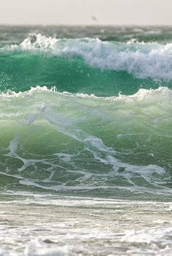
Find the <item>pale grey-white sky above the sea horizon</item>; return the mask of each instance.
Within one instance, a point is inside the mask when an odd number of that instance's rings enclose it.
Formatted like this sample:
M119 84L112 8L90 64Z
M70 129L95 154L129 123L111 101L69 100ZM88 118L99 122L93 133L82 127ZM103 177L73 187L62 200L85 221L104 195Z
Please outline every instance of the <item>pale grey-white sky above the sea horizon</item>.
M0 0L0 24L172 25L172 0Z

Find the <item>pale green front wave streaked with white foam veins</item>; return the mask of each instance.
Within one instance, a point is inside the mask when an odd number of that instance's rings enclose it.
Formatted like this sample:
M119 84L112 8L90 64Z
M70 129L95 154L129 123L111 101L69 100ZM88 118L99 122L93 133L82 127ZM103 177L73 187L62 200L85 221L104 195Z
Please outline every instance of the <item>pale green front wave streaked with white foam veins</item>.
M36 87L0 97L1 188L10 179L15 189L171 194L170 89L96 97Z

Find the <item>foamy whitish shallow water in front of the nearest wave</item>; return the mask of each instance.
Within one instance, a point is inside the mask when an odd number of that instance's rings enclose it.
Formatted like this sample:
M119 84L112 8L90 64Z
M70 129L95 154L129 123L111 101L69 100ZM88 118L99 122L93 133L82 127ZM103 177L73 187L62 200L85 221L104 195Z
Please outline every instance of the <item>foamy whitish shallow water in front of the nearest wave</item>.
M166 203L19 198L1 201L0 255L171 255Z

